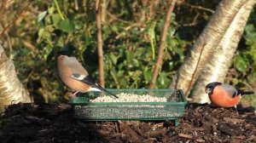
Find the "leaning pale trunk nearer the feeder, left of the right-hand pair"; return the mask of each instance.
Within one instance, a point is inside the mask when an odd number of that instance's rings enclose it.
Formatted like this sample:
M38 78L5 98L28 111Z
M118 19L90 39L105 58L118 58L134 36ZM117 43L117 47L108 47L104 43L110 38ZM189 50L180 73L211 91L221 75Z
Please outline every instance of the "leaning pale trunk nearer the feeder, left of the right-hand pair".
M194 85L199 74L201 74L201 69L207 64L208 59L212 58L214 50L224 37L224 33L228 30L230 23L247 1L223 0L219 3L215 14L212 15L211 20L186 56L183 66L177 72L175 82L171 85L172 88L183 89L185 95L189 95L191 87ZM203 49L203 52L198 63L201 49ZM195 69L197 63L198 67ZM193 74L195 76L192 79ZM191 86L189 86L190 83L192 83Z

